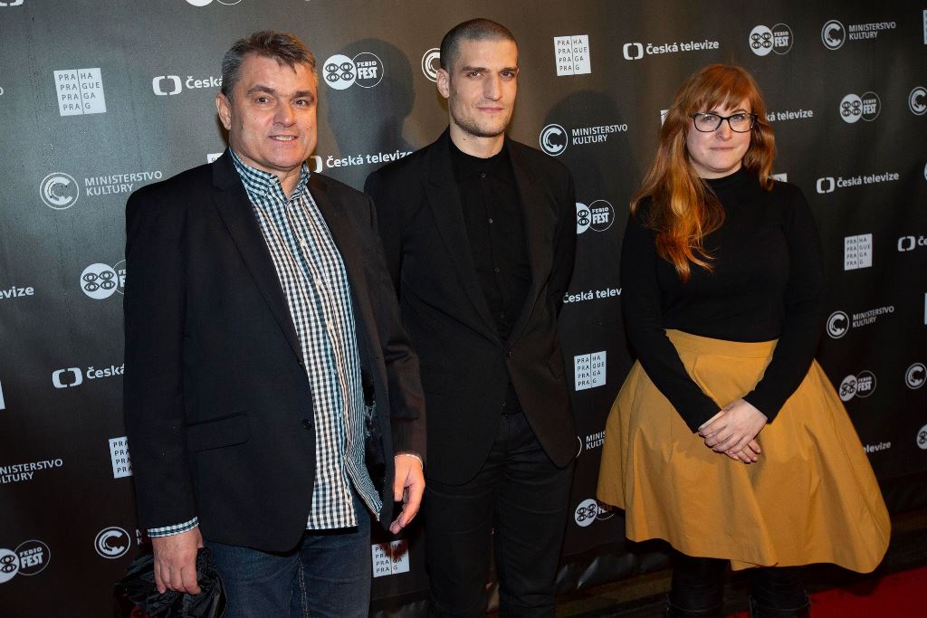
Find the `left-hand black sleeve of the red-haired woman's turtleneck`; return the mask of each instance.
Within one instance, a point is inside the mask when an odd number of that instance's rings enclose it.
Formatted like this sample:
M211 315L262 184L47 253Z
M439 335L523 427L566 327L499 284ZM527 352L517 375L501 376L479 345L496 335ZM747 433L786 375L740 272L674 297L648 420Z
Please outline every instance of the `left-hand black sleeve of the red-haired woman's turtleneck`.
M686 372L663 326L654 232L631 215L621 246L621 309L631 346L654 385L692 432L721 409Z

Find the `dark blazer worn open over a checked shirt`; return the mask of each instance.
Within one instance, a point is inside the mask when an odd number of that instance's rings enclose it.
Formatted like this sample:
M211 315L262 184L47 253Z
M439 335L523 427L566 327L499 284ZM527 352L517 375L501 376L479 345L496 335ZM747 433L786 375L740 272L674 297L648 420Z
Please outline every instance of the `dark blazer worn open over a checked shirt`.
M386 523L394 449L425 454L418 361L370 199L319 174L310 191L348 273ZM296 328L251 208L227 152L129 198L125 422L143 527L197 516L211 540L286 550L310 511L315 426Z

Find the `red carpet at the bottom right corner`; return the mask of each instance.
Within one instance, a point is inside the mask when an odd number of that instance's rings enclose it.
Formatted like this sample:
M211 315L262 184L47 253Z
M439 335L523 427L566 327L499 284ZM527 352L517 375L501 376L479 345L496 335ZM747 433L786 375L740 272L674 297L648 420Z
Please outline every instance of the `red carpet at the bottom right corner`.
M927 567L816 592L811 595L812 618L916 618L927 616L924 591ZM748 612L731 618L747 618Z

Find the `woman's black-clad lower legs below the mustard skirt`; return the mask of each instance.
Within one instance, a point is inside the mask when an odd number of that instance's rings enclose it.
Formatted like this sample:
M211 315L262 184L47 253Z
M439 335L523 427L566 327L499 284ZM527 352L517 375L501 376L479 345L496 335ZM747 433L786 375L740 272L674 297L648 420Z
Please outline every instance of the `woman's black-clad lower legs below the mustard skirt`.
M724 575L728 562L717 558L692 558L679 551L674 552L670 604L687 612L710 612L716 608L720 612L724 603ZM747 570L750 596L756 605L782 611L805 607L807 594L797 571L788 567Z

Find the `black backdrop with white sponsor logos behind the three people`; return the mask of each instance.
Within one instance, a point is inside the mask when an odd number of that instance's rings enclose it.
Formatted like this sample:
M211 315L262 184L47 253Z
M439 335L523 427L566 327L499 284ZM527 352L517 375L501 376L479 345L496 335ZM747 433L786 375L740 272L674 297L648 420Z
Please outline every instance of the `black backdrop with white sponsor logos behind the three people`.
M819 223L819 359L892 511L927 502L927 3L629 0L0 0L0 613L106 616L144 538L122 424L123 208L224 142L213 98L240 36L295 32L319 58L311 168L355 187L433 140L452 25L518 38L511 134L577 181L565 298L578 465L562 591L660 558L594 486L631 356L617 259L661 112L710 62L753 71L780 156ZM153 308L152 310L157 310ZM421 536L377 536L375 607L413 614Z

